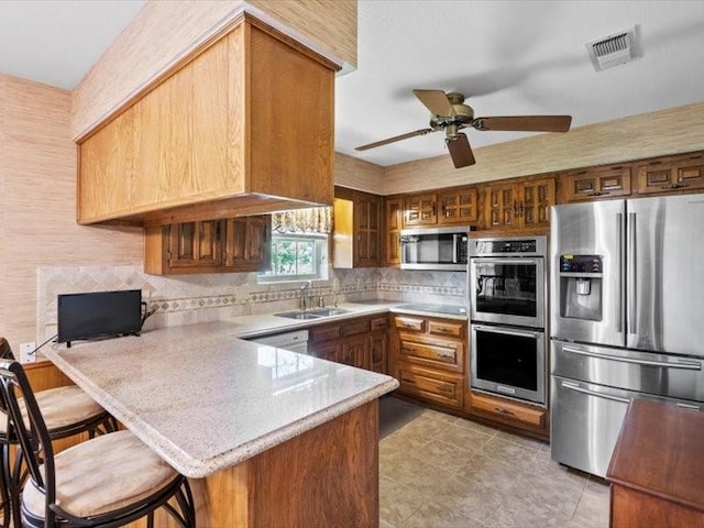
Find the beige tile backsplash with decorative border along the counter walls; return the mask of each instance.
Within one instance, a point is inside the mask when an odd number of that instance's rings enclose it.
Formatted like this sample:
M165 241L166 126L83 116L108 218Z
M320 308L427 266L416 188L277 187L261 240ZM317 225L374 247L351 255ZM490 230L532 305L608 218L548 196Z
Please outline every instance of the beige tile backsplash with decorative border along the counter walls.
M330 270L312 283L315 296L330 305L372 298L464 304L466 273L395 268ZM141 289L155 314L145 328L206 322L298 307L298 283L257 284L256 273L148 275L141 266L37 268L37 341L56 333L56 296L84 292Z

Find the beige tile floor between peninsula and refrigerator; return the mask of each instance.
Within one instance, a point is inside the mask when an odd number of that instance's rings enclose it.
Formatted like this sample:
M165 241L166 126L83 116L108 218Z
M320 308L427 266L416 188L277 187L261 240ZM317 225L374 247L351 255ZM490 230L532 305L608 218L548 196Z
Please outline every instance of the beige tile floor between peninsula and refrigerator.
M608 487L547 443L428 409L409 418L380 442L382 528L608 527Z

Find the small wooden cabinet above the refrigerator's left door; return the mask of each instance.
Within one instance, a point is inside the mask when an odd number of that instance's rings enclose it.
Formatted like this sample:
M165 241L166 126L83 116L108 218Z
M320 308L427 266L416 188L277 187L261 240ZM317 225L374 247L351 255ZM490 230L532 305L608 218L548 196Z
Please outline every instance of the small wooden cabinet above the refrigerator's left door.
M630 166L593 167L560 176L560 204L630 195Z

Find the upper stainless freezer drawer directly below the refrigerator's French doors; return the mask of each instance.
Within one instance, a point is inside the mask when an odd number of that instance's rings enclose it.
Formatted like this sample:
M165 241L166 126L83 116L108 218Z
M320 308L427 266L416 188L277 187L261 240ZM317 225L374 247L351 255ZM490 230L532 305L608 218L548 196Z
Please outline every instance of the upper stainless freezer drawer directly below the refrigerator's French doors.
M552 340L552 374L670 398L704 402L704 360Z

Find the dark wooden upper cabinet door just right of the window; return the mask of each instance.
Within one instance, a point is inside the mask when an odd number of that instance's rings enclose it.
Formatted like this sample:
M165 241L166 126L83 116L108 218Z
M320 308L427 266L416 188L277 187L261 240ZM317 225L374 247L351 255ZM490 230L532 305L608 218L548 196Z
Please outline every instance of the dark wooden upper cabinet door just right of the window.
M378 267L382 262L382 198L356 194L353 208L354 267Z

